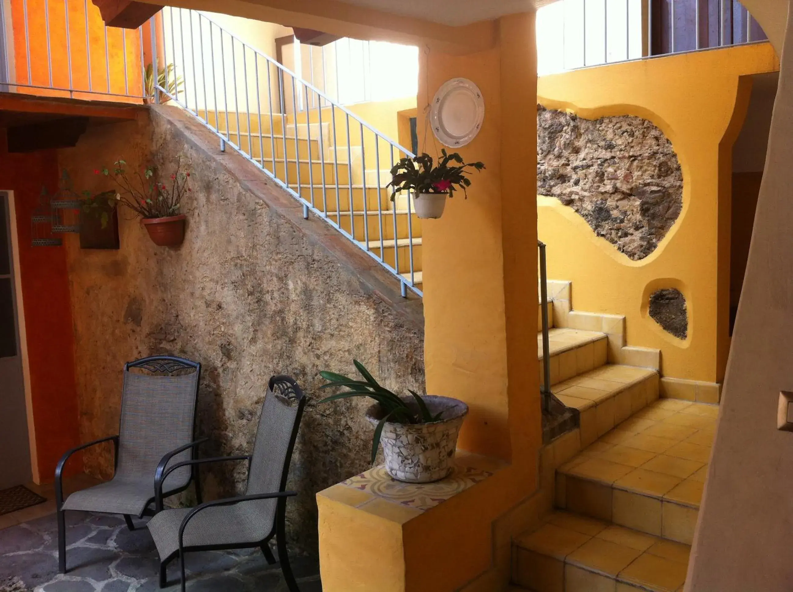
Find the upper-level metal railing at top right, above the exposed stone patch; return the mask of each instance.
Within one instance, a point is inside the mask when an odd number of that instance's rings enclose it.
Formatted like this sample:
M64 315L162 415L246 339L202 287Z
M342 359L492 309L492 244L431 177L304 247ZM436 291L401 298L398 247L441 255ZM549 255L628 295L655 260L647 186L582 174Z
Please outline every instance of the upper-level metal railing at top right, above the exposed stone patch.
M537 11L539 75L763 40L737 0L559 0Z

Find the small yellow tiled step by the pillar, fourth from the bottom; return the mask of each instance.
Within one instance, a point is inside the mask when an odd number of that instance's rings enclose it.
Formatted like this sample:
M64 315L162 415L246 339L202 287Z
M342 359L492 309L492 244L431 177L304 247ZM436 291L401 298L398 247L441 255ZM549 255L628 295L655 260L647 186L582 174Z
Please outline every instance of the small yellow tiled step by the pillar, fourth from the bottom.
M554 328L550 338L550 384L600 368L606 363L607 336L600 331ZM542 360L542 332L537 334L537 359ZM540 382L544 368L540 364ZM555 391L554 391L555 392Z

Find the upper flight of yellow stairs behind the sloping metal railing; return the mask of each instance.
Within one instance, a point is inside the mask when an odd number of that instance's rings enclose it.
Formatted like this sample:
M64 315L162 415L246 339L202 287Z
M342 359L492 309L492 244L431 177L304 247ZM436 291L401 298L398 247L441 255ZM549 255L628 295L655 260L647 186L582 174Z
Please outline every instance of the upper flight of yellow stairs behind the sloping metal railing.
M270 120L269 114L259 118L255 113L250 117L241 113L239 121L231 114L228 124L224 113L216 116L213 111L201 111L199 116L208 117L209 124L221 134L228 136L264 168L274 170L280 181L315 208L327 212L359 246L381 256L392 266L396 265L397 250L400 274L408 280L411 279L412 260L413 280L421 288L421 220L411 208L408 222L407 197L397 196L396 204L392 204L389 190L385 189L391 178L383 164L387 152L382 156L378 179L375 163L370 162L371 155L366 155L364 171L360 139L354 134L351 134L348 147L344 126L338 125L334 130L327 121L321 126L295 124L291 117L280 114ZM328 109L328 119L330 116ZM334 148L334 141L339 148ZM387 164L390 168L390 160ZM410 236L412 244L408 241Z

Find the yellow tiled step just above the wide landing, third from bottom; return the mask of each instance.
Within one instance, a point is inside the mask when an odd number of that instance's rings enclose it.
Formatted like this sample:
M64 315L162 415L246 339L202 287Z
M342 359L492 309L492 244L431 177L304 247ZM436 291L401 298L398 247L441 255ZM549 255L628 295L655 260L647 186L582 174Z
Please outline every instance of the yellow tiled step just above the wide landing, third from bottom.
M554 384L554 395L580 413L581 445L588 446L658 399L658 372L608 364Z

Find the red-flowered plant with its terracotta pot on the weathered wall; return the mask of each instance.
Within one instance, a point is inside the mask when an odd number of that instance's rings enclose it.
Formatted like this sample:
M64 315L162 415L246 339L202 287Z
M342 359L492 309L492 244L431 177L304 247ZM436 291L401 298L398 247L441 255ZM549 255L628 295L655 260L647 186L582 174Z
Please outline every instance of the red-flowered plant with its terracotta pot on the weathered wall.
M182 159L167 183L161 181L155 166L146 166L136 172L136 180L129 178L124 160L113 162L113 169L94 170L112 178L120 189L116 193L118 203L125 205L140 216L152 242L158 246L178 246L185 239L184 214L179 213L182 199L192 189L188 186L190 171L182 170Z

